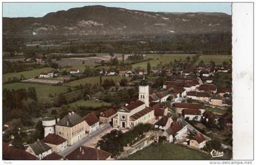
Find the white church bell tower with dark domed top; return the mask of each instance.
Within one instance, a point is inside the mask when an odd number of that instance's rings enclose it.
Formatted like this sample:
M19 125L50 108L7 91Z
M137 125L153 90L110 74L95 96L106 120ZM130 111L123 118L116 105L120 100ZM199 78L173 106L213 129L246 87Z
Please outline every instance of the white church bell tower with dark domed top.
M149 84L144 78L139 84L139 100L143 101L149 107Z

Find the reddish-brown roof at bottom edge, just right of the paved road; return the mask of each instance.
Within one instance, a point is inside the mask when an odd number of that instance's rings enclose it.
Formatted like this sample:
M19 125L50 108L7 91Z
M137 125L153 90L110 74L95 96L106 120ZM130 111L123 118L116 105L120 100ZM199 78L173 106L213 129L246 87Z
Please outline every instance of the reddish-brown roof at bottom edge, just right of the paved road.
M111 153L91 147L80 146L66 155L68 160L107 160Z

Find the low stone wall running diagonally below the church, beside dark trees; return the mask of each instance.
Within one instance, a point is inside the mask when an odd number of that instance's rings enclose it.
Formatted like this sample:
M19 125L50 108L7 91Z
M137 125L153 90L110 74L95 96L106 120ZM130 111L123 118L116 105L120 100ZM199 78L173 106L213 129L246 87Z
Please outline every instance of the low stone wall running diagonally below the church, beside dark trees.
M130 149L125 150L121 155L118 156L117 160L122 160L123 158L132 155L133 153L137 152L138 150L144 149L144 147L148 147L150 144L154 143L157 139L155 132L148 132L145 134L146 136L138 141L137 143L130 146Z

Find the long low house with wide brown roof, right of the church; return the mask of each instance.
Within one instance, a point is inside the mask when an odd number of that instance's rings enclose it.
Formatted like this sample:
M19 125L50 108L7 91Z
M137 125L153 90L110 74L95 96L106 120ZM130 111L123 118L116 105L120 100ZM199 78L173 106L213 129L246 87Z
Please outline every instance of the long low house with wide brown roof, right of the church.
M199 109L201 114L205 112L204 106L196 103L174 103L172 107L175 107L175 112L179 114L182 113L183 109Z

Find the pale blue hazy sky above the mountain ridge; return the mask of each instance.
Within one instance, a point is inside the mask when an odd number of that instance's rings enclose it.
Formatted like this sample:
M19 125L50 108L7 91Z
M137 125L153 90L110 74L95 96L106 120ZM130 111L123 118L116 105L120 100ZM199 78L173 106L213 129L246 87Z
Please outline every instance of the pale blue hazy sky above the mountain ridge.
M49 12L85 5L105 5L149 12L222 12L231 15L231 3L3 3L4 17L41 17Z

